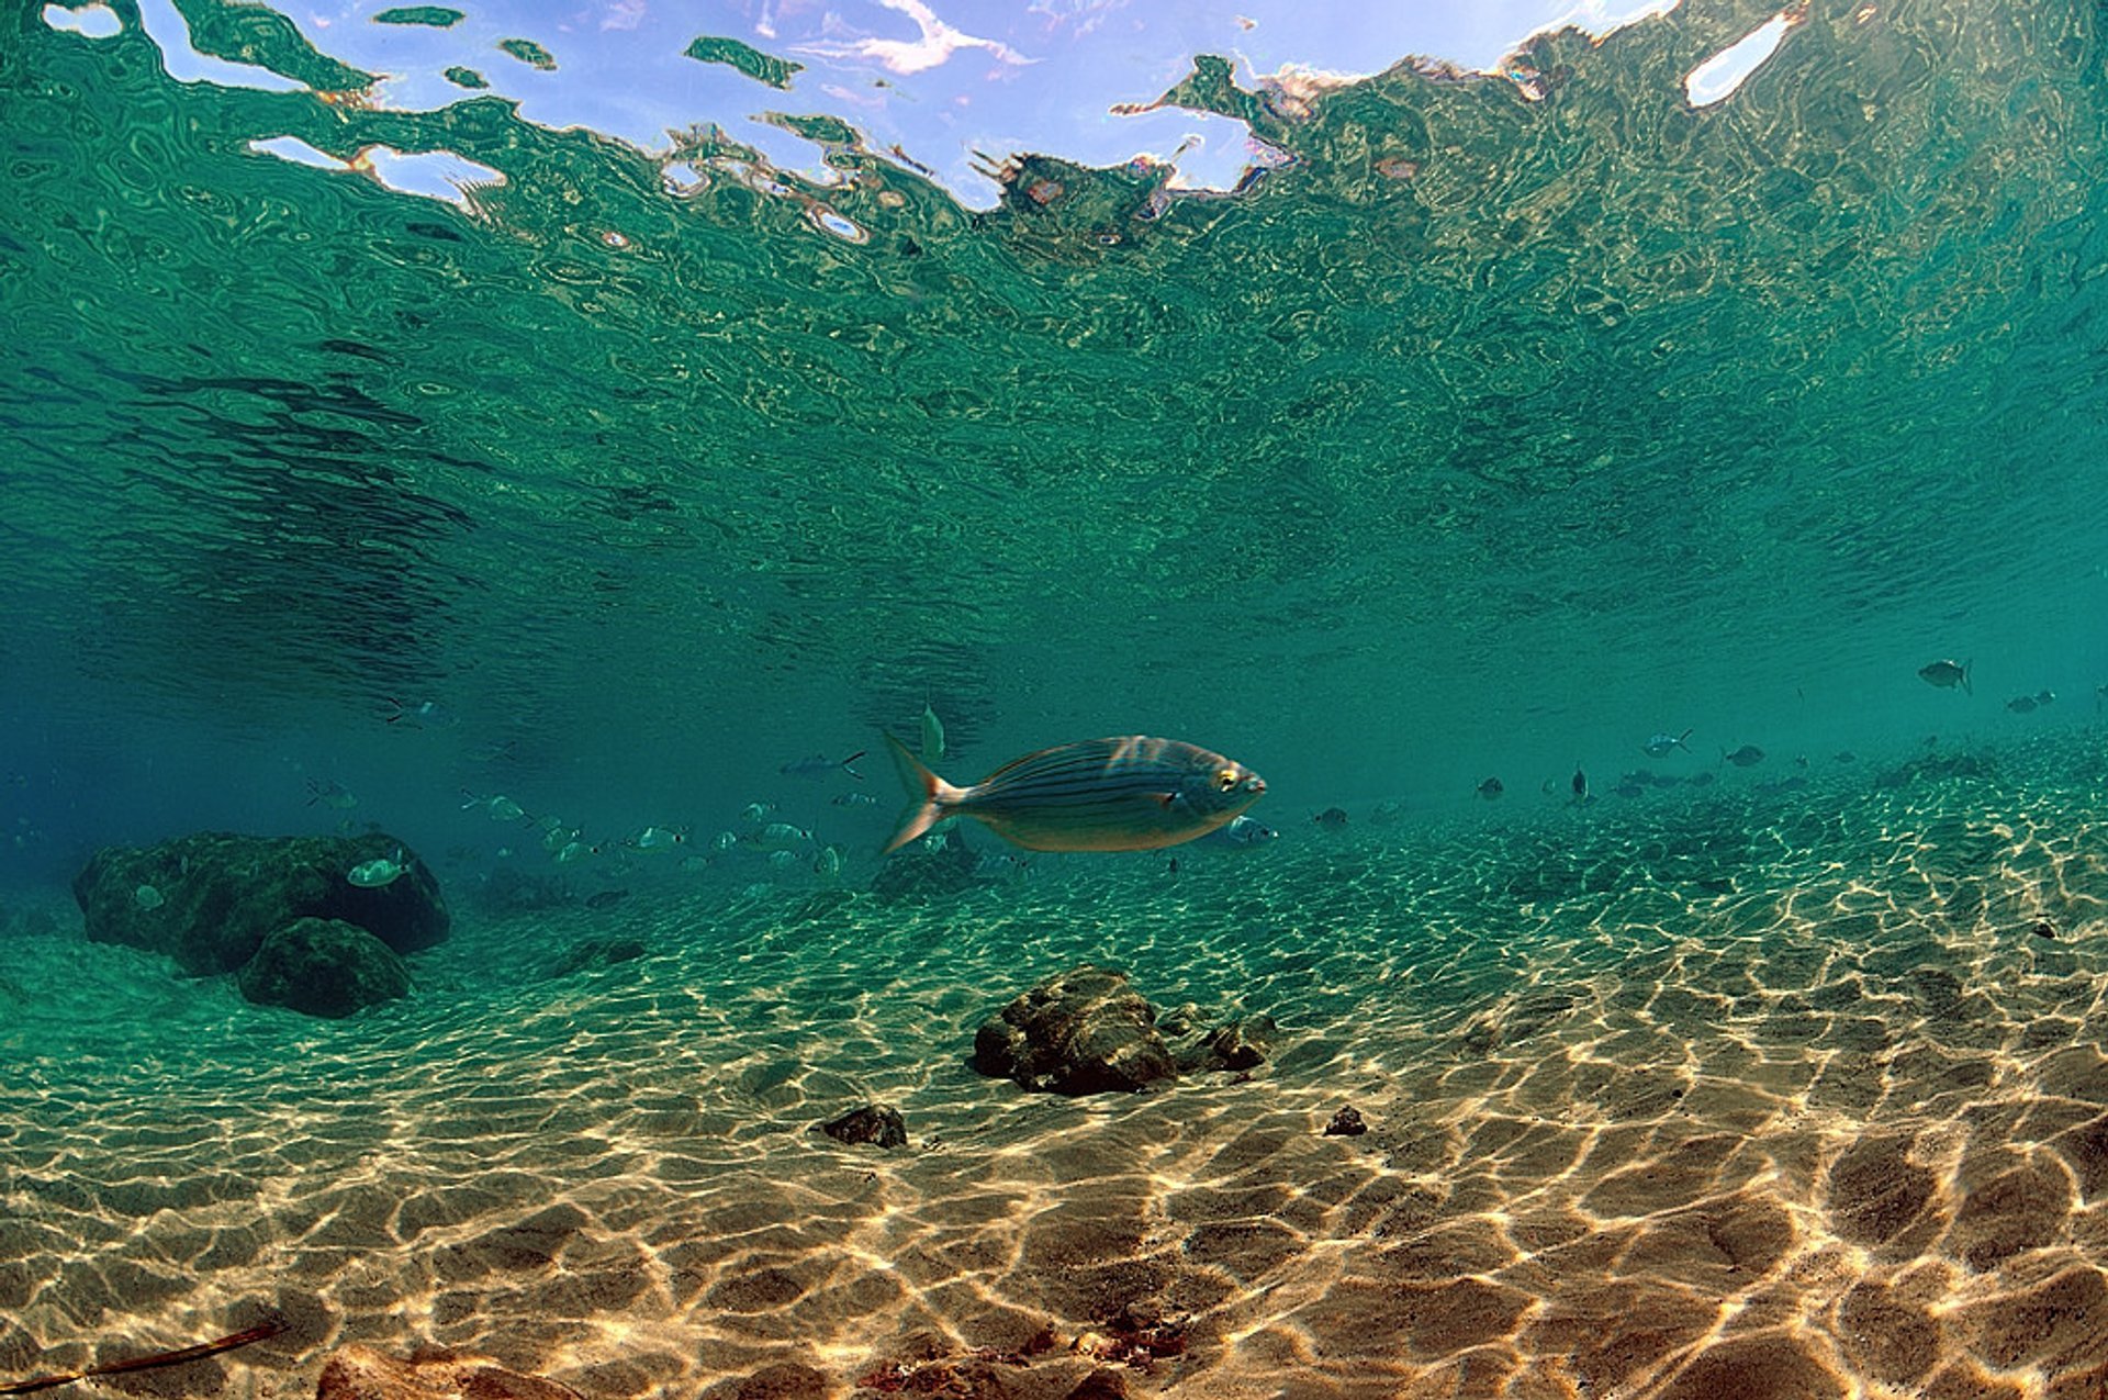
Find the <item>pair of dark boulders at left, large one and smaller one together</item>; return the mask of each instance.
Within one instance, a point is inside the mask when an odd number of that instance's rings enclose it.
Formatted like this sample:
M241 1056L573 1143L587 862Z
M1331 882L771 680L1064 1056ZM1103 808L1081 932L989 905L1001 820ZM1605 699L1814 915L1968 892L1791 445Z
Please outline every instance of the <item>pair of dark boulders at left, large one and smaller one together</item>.
M373 888L350 881L375 860L403 873ZM238 972L251 1002L310 1016L407 995L401 955L449 928L432 871L386 833L108 845L74 877L74 898L95 942L167 953L190 976Z

